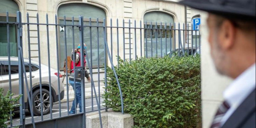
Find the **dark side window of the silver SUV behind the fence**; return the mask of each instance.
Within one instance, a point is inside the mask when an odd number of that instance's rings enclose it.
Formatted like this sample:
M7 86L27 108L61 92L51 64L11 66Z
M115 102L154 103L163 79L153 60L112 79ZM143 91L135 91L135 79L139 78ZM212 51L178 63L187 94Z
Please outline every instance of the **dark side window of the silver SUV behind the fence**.
M29 72L29 65L27 62L25 64L26 72ZM9 68L8 68L8 60L2 61L2 68L5 69L5 75L9 75ZM18 61L11 61L11 74L17 74L19 73L19 67L18 67Z

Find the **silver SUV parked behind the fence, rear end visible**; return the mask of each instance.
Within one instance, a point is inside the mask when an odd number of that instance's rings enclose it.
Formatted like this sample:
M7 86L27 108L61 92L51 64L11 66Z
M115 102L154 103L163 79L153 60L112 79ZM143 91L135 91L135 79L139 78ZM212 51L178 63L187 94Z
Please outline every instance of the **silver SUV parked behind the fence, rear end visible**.
M9 90L9 70L8 70L8 57L0 57L0 87L4 88L4 94ZM30 90L30 77L32 78L32 107L34 115L41 115L41 103L40 103L40 82L39 82L39 63L31 60L31 76L29 73L29 59L24 58L26 75L28 81L28 87ZM42 80L42 96L43 96L43 114L47 114L50 111L50 93L49 93L49 73L48 66L41 64L41 80ZM51 87L52 87L52 102L57 102L64 98L64 85L60 81L60 94L58 93L58 73L56 69L51 68ZM62 77L62 75L60 75ZM11 57L11 85L13 98L19 96L19 74L18 74L18 57ZM28 95L26 89L26 83L24 78L24 99L25 109L28 109ZM18 104L18 103L17 103ZM15 110L18 110L16 108ZM14 111L15 111L14 110ZM29 110L29 109L28 109Z

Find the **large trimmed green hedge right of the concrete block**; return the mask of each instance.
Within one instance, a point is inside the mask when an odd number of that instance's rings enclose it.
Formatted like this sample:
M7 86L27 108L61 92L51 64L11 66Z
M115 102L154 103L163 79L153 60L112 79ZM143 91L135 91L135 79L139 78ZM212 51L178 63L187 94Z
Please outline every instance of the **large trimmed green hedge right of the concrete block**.
M140 58L115 67L123 92L124 112L134 128L201 127L200 56ZM121 111L118 85L107 68L104 103Z

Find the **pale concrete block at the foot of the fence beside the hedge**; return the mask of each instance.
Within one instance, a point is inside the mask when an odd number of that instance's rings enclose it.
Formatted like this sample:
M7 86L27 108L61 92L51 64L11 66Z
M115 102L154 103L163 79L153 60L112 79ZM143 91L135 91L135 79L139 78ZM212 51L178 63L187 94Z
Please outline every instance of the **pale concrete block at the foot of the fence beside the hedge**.
M120 112L101 113L102 128L132 128L133 117L130 114L122 114ZM86 128L100 128L100 120L98 112L86 115Z

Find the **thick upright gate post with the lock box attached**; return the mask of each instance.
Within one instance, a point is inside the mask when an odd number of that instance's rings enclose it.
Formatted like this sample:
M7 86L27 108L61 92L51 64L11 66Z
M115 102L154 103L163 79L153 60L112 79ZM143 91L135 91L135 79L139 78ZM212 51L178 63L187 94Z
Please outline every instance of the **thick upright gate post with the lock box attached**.
M79 31L80 31L80 51L81 51L81 54L80 54L80 62L81 62L81 66L84 68L85 65L84 65L84 17L83 16L79 16ZM88 58L88 56L87 56ZM89 59L87 59L88 63L89 63ZM90 68L90 65L88 66ZM90 72L92 73L92 72ZM84 92L85 92L85 88L84 88L84 73L82 73L82 79L81 79L81 97L82 97L82 113L83 114L83 119L82 119L82 126L83 128L86 127L85 125L85 98L84 98Z

